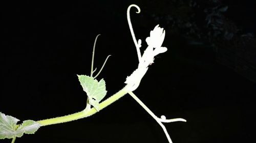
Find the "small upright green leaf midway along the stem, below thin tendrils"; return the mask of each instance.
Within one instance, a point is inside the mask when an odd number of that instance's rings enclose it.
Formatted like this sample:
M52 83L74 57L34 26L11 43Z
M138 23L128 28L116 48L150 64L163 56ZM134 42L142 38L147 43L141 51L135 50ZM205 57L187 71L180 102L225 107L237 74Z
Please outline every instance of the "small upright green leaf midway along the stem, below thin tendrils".
M87 75L77 75L82 85L83 91L87 93L89 104L99 110L99 102L106 95L106 85L104 79L97 81L93 77Z

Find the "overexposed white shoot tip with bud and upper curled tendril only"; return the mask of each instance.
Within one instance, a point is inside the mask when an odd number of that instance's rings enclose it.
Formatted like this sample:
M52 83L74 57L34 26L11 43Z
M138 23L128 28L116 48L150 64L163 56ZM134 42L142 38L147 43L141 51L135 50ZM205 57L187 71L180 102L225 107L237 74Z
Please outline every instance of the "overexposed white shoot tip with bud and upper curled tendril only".
M145 75L148 66L154 63L154 57L159 53L163 53L167 51L166 47L162 47L162 43L165 37L165 31L163 28L156 25L154 30L150 32L150 37L146 38L147 48L145 49L143 55L141 56L140 47L141 47L141 40L137 42L135 38L135 34L133 32L133 27L130 18L130 9L131 7L136 7L138 12L140 12L140 8L137 5L131 5L127 9L127 20L129 23L129 27L131 30L131 34L137 49L137 54L139 58L138 68L130 75L127 76L126 83L130 88L130 91L134 91L139 87L140 81L142 77Z

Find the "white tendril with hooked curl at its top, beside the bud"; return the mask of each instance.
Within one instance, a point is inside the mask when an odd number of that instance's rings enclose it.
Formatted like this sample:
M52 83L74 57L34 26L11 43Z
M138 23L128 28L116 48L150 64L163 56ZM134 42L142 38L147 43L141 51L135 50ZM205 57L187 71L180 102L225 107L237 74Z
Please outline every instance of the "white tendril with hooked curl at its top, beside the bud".
M138 11L136 13L140 13L140 8L137 5L134 5L134 4L130 5L127 8L127 21L128 21L129 28L130 28L130 31L131 31L131 34L132 34L132 37L133 37L133 42L134 42L134 44L136 46L136 50L137 50L137 54L138 54L138 59L139 59L139 62L140 62L141 61L141 53L140 53L141 40L139 39L139 41L137 42L135 34L134 34L134 31L133 31L133 26L132 26L131 17L130 17L130 9L132 7L137 8Z

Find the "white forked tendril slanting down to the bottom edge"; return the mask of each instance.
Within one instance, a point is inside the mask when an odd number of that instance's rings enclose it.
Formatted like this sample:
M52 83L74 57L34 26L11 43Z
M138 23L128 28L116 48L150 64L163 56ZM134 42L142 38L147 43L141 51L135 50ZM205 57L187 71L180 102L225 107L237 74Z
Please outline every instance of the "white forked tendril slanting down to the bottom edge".
M170 120L166 120L166 119L160 119L157 116L155 116L155 114L131 91L128 92L156 121L157 123L162 127L165 136L167 137L169 143L173 143L172 139L170 139L170 136L165 128L165 126L162 124L162 122L176 122L176 121L183 121L186 122L186 120L181 119L181 118L177 118L177 119L170 119ZM162 116L165 117L165 116Z

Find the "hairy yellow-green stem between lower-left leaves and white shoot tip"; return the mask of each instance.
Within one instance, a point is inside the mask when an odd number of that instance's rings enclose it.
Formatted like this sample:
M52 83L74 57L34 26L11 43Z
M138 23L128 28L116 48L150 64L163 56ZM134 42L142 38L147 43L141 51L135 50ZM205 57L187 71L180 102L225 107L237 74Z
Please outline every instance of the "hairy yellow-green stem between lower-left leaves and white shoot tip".
M119 98L124 96L127 92L128 92L128 90L126 89L126 87L124 87L122 90L120 90L116 94L112 95L108 99L101 102L99 104L99 110L101 110L101 109L105 108L106 106L110 105L111 103L115 102L116 100L118 100ZM51 118L51 119L46 119L46 120L40 120L40 121L37 121L37 123L41 124L42 126L65 123L65 122L89 117L96 112L97 112L97 110L95 108L91 108L90 110L84 109L80 112L73 113L71 115L57 117L57 118Z

